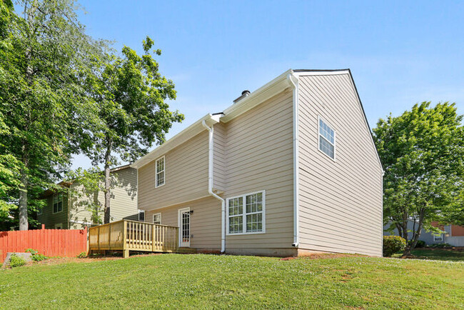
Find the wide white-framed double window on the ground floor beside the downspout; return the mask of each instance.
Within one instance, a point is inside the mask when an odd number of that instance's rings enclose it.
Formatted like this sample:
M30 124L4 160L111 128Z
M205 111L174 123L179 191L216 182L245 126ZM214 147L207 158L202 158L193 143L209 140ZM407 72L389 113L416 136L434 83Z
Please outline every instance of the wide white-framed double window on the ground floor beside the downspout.
M227 233L256 234L265 231L265 191L227 199Z

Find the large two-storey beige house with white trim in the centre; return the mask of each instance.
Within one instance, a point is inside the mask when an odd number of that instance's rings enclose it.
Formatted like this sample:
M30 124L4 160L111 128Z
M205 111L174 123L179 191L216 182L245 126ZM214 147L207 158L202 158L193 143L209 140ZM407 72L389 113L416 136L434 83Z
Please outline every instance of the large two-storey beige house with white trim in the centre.
M145 221L229 254L382 255L382 179L349 69L288 70L132 166Z

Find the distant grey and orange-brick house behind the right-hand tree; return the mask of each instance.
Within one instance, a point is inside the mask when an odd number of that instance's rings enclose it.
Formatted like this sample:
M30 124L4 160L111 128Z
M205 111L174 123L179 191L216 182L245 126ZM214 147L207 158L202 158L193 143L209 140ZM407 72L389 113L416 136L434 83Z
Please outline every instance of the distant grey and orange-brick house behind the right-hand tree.
M432 223L433 224L433 223ZM417 224L416 224L417 225ZM434 225L435 226L435 225ZM383 226L383 234L385 236L398 236L398 229L393 231L393 234L387 231L390 228L390 224ZM419 240L425 242L425 244L450 244L452 246L464 246L464 226L458 225L445 225L440 227L443 234L435 235L432 234L430 231L425 231L422 229L420 231ZM408 221L408 239L413 238L413 231L414 231L414 222Z

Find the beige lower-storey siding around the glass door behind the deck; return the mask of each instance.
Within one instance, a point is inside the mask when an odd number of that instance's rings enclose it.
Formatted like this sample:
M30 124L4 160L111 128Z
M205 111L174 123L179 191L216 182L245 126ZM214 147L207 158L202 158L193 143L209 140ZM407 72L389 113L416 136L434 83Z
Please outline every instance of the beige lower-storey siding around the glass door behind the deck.
M186 204L147 211L145 221L153 223L153 214L161 213L161 224L178 226L178 210L190 208L191 240L190 247L205 251L221 250L221 202L206 197Z

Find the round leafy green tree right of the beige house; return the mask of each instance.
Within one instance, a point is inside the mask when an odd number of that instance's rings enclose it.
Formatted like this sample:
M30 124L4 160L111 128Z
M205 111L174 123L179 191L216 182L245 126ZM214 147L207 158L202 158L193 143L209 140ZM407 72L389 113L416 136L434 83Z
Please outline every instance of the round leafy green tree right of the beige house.
M405 247L410 255L420 231L439 229L432 221L448 224L462 210L464 135L463 116L455 104L415 104L401 116L380 119L373 129L385 176L384 221L391 222L408 241L408 220L413 237Z

